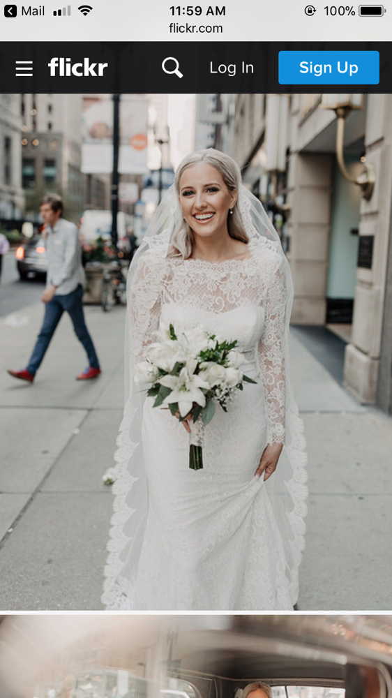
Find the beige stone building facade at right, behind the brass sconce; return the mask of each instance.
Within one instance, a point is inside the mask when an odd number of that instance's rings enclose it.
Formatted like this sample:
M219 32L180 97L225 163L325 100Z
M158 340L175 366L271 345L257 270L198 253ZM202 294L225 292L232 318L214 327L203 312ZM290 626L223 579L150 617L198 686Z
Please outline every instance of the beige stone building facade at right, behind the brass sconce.
M279 112L269 108L276 98ZM336 114L321 105L322 94L236 95L234 157L246 184L281 214L292 322L344 323L347 389L392 413L392 95L363 95L363 110L345 121L347 169L358 175L361 158L375 167L369 201L340 173ZM283 167L282 158L271 165L274 148L285 152Z

